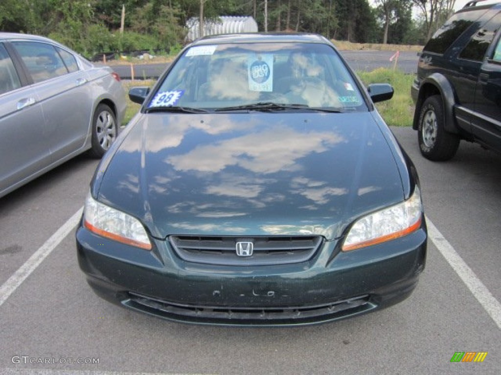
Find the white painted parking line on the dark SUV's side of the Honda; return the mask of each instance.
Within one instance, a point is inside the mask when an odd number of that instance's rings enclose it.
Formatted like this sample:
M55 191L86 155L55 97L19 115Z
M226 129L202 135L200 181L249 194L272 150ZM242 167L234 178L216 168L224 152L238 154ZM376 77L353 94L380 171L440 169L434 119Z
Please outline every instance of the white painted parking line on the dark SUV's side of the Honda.
M426 224L428 226L428 238L431 239L445 260L456 271L473 296L480 302L492 320L494 320L497 327L501 329L501 303L490 293L487 287L476 276L475 272L468 267L461 256L454 250L454 247L438 231L428 217L426 217Z

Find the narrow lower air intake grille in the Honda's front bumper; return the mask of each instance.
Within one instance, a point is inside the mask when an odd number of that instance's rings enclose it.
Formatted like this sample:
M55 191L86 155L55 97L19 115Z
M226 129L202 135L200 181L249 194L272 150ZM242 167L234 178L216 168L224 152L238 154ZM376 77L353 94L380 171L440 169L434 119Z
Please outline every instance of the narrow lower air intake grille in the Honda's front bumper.
M171 303L129 292L125 306L175 321L236 325L312 324L337 320L375 309L369 295L308 306L195 306Z

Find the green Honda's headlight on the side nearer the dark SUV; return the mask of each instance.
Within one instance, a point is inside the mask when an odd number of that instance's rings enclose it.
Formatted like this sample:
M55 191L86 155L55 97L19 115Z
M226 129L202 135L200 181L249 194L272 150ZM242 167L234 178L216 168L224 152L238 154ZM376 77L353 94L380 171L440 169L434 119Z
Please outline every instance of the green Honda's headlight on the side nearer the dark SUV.
M421 194L416 186L409 199L355 221L342 250L354 250L403 237L421 227L421 217Z

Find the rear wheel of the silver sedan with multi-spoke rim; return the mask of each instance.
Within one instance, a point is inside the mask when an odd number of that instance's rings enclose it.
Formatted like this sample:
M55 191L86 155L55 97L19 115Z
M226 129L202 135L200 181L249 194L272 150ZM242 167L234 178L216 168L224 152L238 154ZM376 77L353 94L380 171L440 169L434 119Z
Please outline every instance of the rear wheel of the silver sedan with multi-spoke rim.
M106 104L99 104L92 119L92 148L93 157L102 157L117 137L117 120L111 108Z

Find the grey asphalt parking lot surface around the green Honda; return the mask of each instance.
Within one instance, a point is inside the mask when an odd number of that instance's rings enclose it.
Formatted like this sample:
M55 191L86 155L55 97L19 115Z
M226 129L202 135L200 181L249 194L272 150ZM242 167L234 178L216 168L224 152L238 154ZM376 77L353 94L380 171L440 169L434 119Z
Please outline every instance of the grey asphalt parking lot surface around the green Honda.
M432 163L418 154L414 131L393 131L420 173L434 224L426 269L404 302L339 322L273 329L177 324L111 305L78 268L74 229L53 236L82 206L97 165L79 156L0 198L0 300L37 249L54 247L0 305L0 373L497 375L501 156L462 143L452 161ZM482 363L451 363L456 351L488 354Z

